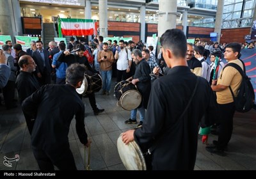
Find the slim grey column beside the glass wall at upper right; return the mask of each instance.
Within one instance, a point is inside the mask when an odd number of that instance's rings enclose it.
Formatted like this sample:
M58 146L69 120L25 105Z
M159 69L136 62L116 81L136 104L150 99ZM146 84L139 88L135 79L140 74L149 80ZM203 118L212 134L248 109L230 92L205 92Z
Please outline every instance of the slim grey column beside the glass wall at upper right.
M218 1L214 32L218 33L218 42L219 43L220 43L220 36L221 36L223 8L224 8L224 1Z

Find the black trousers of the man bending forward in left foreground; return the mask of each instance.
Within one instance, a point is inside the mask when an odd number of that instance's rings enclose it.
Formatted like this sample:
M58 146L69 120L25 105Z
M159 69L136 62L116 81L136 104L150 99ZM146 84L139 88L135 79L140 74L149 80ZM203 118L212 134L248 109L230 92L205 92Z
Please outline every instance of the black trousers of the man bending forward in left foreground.
M45 152L33 148L33 153L40 170L53 171L54 166L60 170L77 170L70 148L60 148L58 152Z

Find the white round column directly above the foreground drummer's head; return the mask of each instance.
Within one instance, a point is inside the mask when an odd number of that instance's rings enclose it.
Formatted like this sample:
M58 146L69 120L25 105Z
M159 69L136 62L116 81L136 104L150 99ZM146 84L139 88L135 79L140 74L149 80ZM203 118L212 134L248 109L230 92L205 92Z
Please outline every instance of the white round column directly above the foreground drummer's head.
M177 0L159 0L158 36L160 37L167 29L176 28Z

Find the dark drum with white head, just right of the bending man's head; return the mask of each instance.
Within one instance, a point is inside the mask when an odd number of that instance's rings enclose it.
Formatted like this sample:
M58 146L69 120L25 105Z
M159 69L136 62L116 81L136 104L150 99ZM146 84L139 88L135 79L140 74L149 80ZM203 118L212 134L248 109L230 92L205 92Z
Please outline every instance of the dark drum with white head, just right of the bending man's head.
M102 88L102 79L99 74L84 74L83 84L76 91L79 95L98 92Z

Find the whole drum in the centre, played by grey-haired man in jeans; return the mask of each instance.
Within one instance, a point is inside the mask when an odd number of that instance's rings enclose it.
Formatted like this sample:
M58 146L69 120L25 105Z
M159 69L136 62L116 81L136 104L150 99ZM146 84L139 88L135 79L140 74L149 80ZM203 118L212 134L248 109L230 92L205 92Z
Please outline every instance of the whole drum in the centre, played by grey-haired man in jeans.
M131 111L141 104L141 94L130 81L120 81L114 89L118 104L125 110Z

